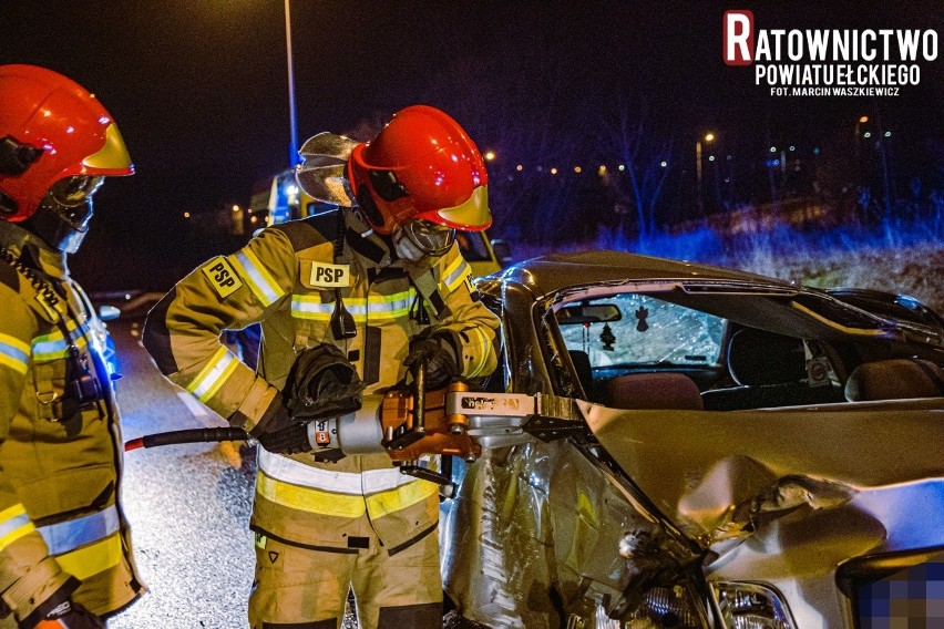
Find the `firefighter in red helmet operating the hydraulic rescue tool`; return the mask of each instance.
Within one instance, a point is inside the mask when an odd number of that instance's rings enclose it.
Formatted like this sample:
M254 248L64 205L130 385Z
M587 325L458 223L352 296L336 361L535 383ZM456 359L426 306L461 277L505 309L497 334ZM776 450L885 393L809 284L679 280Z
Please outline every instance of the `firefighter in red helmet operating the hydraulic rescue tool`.
M312 454L300 422L356 409L360 386L386 391L411 365L427 365L430 388L494 370L499 320L454 243L456 228L491 224L485 165L455 121L422 105L369 143L326 133L300 153L299 185L341 209L270 226L195 269L150 312L144 346L263 446L253 629L340 627L349 587L362 628L440 627L438 486L401 474L382 451L332 456L319 442ZM254 373L219 337L257 321ZM305 413L291 394L299 354L332 365L304 383L321 392Z

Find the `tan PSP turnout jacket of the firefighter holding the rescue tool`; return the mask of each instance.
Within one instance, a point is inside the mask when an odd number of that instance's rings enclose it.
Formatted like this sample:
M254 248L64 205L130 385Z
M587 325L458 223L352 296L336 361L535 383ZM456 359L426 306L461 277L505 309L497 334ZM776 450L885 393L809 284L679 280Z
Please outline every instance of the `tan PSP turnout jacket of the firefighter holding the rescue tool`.
M463 375L494 370L499 320L473 297L458 247L427 267L402 268L390 265L382 239L349 230L336 260L332 243L311 223L267 228L177 282L144 330L162 372L234 425L252 426L285 386L297 352L322 342L346 352L367 393L403 380L409 342L427 329L450 336ZM438 303L424 307L423 281L434 287L430 299ZM331 333L338 290L357 328L352 339ZM219 341L223 330L256 321L263 327L258 375ZM316 463L309 454L260 452L259 463L252 525L270 536L343 550L368 522L386 547L397 548L435 526L438 487L401 475L387 454Z

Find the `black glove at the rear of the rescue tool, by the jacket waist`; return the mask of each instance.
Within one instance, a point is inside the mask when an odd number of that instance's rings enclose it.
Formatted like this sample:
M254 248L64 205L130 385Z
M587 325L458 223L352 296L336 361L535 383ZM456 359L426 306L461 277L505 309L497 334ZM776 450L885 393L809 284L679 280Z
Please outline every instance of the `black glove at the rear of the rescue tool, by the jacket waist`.
M363 382L345 353L321 343L298 354L285 389L296 422L339 417L360 409Z

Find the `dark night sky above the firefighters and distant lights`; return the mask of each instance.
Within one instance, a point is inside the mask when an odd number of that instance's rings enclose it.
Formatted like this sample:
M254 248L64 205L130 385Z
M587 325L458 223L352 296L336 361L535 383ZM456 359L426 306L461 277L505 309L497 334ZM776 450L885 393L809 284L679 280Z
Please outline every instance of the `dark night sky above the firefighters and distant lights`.
M99 288L120 283L102 278L100 256L109 251L117 275L134 267L127 277L147 283L141 267L175 255L183 210L245 205L254 182L287 167L283 7L0 0L0 62L44 65L96 93L137 169L99 193L93 229L101 233L86 243L96 251L83 247L73 265L80 280L81 268ZM724 64L726 9L753 10L765 29L917 28L944 35L937 0L291 0L298 141L320 131L356 135L366 122L428 103L452 113L486 148L501 141L488 124L492 112L502 112L503 124L553 130L620 99L645 101L656 124L688 144L708 128L724 130L731 146L768 138L809 144L876 107L902 133L944 137L944 51L921 63L921 84L902 96L777 99L753 84L750 69ZM479 87L484 81L489 89ZM502 94L522 86L529 106L509 115ZM167 288L164 278L152 283L146 288Z

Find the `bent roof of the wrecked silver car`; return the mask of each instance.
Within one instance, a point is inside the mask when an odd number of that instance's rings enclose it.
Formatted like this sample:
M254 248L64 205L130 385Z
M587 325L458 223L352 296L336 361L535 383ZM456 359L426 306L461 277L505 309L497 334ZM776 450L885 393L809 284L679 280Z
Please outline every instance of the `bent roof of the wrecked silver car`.
M622 251L552 254L509 267L480 282L479 290L504 300L512 293L517 310L550 296L582 299L632 290L658 293L675 303L782 334L859 342L895 340L944 348L941 330L858 308L827 291L761 275ZM618 288L624 286L624 288ZM748 297L748 299L745 299ZM506 306L509 305L505 301Z

